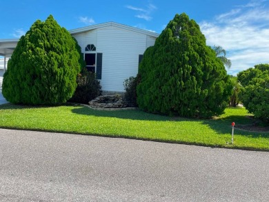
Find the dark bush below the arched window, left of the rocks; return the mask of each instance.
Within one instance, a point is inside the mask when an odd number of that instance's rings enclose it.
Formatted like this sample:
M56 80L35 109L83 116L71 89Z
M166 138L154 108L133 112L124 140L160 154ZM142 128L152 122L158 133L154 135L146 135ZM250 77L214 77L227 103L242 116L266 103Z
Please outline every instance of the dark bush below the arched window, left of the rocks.
M77 89L69 101L88 104L89 101L98 97L100 94L100 81L95 79L94 73L83 68L81 74L78 74L77 76Z

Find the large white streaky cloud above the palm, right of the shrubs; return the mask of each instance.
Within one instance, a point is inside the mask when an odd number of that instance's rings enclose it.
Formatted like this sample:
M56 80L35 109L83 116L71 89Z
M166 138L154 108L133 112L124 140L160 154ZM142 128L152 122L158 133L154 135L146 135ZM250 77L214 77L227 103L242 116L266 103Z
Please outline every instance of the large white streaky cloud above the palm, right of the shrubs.
M250 1L200 23L209 46L222 46L236 74L259 63L269 63L269 6L266 1Z

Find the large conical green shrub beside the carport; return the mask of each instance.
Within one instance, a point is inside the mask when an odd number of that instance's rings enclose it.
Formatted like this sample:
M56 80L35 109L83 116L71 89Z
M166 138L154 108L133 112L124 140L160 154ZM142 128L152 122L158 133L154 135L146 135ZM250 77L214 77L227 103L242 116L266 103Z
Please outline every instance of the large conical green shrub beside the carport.
M50 15L19 40L3 76L3 96L11 103L66 103L80 70L76 41Z

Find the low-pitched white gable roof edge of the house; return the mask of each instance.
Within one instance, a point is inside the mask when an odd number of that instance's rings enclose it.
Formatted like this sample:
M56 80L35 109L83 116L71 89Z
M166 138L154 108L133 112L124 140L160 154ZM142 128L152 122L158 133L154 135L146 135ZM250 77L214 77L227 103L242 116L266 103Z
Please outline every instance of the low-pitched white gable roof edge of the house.
M138 32L140 34L146 34L150 37L159 37L159 34L155 33L155 32L150 32L148 30L142 30L139 28L134 28L131 26L126 26L120 23L114 23L114 22L108 22L108 23L101 23L101 24L97 24L94 26L87 26L87 27L83 27L83 28L78 28L78 29L74 29L74 30L69 30L70 34L80 34L83 32L88 32L90 30L96 30L99 28L106 28L106 27L115 27L115 28L121 28L123 30L129 30L132 32Z

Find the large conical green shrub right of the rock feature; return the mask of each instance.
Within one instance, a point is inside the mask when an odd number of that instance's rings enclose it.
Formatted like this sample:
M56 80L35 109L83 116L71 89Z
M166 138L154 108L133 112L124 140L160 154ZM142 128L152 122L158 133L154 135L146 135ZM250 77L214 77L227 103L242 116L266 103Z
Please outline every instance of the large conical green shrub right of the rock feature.
M139 108L183 117L223 113L232 86L199 26L176 14L139 65Z

